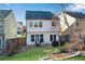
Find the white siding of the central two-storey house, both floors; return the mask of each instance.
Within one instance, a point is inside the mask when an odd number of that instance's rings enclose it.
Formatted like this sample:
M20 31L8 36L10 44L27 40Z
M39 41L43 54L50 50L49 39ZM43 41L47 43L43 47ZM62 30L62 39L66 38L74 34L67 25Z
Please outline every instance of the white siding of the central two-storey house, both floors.
M42 22L42 27L29 27L29 22ZM56 21L59 22L59 21ZM56 40L58 40L58 31L59 31L59 23L56 23L56 27L53 29L52 27L52 20L27 20L27 44L36 44L34 42L31 42L31 35L41 35L43 34L43 40L42 43L52 43L49 40L51 35L56 35Z

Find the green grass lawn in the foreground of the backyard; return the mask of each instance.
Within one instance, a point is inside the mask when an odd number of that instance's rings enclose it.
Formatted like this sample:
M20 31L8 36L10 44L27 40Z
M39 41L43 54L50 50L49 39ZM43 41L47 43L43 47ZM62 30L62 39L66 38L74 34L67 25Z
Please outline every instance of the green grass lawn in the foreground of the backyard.
M0 61L38 61L51 52L58 52L58 48L45 47L28 49L27 52L17 53L13 56L0 56ZM85 56L75 56L62 61L85 61Z

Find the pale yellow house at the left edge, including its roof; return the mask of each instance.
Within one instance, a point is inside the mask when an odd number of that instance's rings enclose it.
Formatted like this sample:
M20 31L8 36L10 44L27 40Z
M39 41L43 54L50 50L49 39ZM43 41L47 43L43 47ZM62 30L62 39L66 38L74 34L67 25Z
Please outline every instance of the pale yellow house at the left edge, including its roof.
M0 10L0 54L15 42L16 20L12 10ZM11 42L11 40L13 40ZM10 46L10 43L12 43ZM10 49L9 49L10 50ZM6 51L8 52L8 51Z

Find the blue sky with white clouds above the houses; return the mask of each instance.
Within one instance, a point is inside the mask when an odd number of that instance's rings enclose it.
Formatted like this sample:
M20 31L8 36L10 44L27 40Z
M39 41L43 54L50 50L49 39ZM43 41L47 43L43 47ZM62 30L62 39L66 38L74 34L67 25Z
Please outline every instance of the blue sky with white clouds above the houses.
M68 3L65 4L67 11L77 11L85 13L85 4ZM0 10L13 10L17 22L26 25L26 11L51 11L54 14L61 12L60 3L0 3Z

